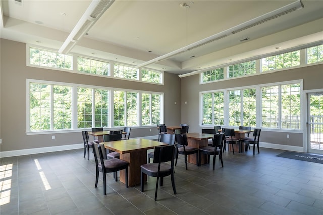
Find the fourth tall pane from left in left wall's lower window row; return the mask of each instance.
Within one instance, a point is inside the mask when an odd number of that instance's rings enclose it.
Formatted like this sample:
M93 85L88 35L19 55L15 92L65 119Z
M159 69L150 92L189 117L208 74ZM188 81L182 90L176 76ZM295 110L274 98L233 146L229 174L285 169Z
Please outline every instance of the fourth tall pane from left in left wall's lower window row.
M94 89L95 127L109 127L110 90Z

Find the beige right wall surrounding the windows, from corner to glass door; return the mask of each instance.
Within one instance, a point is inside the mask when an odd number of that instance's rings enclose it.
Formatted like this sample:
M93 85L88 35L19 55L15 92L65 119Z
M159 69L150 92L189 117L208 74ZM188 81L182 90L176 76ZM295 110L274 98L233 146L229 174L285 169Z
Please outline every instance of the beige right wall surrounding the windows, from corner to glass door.
M190 125L190 131L200 132L199 121L199 93L201 91L235 88L265 83L283 82L289 80L303 80L303 90L323 89L323 64L312 65L303 68L289 69L274 73L264 73L256 76L232 79L209 84L199 84L199 75L183 77L182 86L182 122ZM187 104L184 104L187 101ZM286 135L290 134L290 138ZM270 132L262 129L261 142L271 144L303 146L303 133Z

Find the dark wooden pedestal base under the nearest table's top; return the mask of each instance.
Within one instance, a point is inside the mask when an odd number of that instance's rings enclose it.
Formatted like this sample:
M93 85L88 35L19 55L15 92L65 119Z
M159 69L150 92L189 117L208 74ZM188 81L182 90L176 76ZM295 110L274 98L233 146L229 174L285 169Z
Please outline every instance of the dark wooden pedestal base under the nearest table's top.
M129 162L128 166L128 183L129 187L136 186L140 184L140 173L142 164L147 163L147 151L137 151L126 154L120 154L120 159ZM120 181L126 183L125 181L126 170L120 171ZM147 176L145 175L144 181L147 181Z

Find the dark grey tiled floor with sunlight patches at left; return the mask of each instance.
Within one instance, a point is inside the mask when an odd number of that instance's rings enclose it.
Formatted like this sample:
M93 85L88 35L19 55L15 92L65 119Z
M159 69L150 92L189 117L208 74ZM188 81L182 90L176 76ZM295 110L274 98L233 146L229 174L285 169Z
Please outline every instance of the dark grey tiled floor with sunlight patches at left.
M224 168L196 167L179 155L177 195L170 178L158 190L148 178L125 188L109 173L107 195L102 175L94 188L95 165L83 149L1 159L0 214L323 214L323 164L260 154L224 153Z

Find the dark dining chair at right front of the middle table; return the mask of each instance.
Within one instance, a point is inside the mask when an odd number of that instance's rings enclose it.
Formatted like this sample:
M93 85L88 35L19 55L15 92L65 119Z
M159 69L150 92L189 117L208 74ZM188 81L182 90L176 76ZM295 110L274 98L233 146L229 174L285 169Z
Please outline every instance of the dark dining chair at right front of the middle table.
M216 155L219 155L219 159L221 160L221 165L223 167L223 158L222 158L222 148L224 144L224 134L214 134L212 146L206 146L199 148L199 164L201 163L201 154L208 155L208 161L209 156L213 155L213 170L216 166Z

